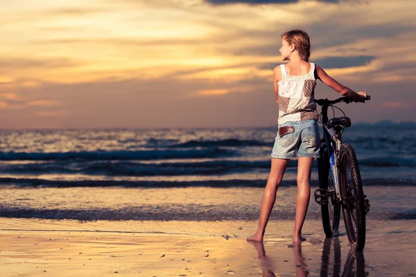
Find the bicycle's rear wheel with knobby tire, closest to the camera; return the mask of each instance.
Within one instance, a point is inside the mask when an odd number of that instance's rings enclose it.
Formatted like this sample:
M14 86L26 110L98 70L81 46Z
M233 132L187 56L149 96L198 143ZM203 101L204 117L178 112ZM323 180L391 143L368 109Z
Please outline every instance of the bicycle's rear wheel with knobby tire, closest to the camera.
M363 251L365 244L365 202L360 168L354 149L345 143L340 148L340 182L343 190L343 215L349 244Z

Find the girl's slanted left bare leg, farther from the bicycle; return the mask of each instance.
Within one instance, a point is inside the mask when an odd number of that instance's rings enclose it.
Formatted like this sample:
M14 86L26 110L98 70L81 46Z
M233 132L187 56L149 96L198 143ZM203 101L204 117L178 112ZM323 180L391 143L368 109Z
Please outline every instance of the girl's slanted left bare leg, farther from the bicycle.
M266 188L263 192L263 200L261 201L261 210L259 218L259 227L254 235L250 235L247 240L263 241L264 231L270 217L273 205L275 205L276 191L279 187L281 179L283 179L284 171L288 166L289 159L272 159L270 175L267 180Z

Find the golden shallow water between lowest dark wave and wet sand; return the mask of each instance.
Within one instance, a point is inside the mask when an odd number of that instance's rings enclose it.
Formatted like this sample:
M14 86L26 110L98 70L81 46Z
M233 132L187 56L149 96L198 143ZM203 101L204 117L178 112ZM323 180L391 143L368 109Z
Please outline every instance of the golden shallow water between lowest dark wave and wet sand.
M312 192L315 188L312 188ZM0 215L74 220L257 220L263 188L11 188L0 189ZM416 188L370 186L368 219L414 220ZM293 220L297 188L277 191L272 220ZM320 219L312 198L307 217Z

